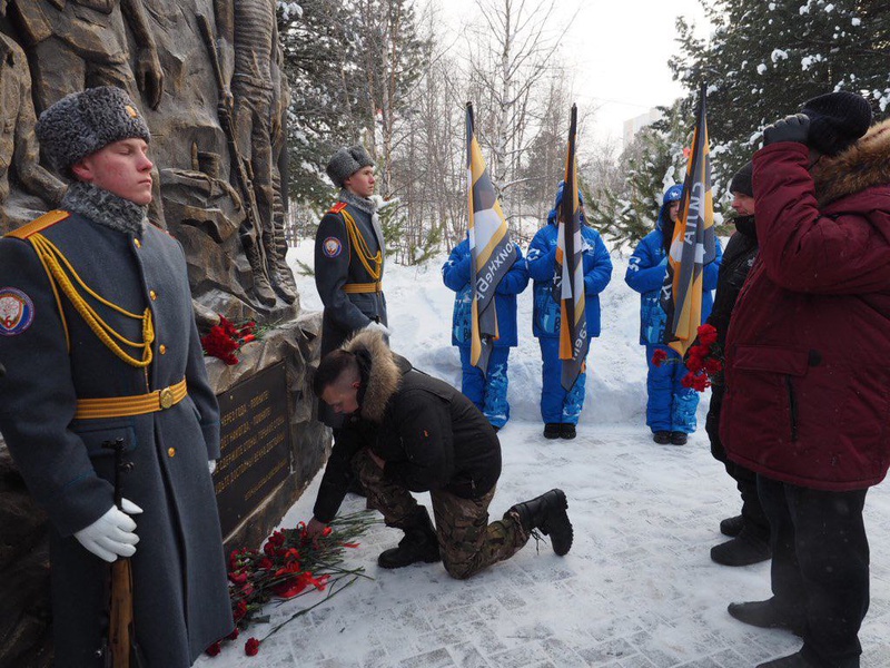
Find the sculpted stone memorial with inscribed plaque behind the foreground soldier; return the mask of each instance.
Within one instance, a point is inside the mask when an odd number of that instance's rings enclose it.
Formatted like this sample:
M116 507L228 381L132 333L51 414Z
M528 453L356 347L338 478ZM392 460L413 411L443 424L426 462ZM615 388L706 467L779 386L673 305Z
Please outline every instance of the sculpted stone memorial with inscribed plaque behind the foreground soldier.
M307 379L320 314L300 311L285 258L289 95L275 0L0 0L0 234L67 187L41 161L36 118L69 92L118 86L151 130L149 218L186 250L199 330L221 315L266 332L236 365L206 358L227 548L257 546L329 444ZM44 521L0 441L0 667L51 665Z

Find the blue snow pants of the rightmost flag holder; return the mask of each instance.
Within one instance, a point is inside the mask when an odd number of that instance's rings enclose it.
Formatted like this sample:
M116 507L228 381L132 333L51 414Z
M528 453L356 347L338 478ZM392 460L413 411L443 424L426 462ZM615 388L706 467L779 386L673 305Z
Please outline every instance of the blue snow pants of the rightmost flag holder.
M668 353L661 365L652 364L655 351ZM646 344L646 424L656 431L676 431L691 434L695 431L695 409L699 407L699 393L681 383L686 371L683 358L666 345Z

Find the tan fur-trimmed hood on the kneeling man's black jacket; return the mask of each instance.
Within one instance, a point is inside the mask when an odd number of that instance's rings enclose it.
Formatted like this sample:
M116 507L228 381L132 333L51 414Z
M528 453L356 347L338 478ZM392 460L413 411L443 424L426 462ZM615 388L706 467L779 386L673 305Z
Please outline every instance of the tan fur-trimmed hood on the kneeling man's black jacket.
M360 402L359 413L365 420L382 422L389 399L398 392L398 387L402 384L402 376L405 373L403 366L411 367L411 365L407 360L395 355L389 350L380 332L373 330L358 332L343 344L343 350L357 355L359 357L359 366L363 361L368 363L367 381L364 386L364 397Z

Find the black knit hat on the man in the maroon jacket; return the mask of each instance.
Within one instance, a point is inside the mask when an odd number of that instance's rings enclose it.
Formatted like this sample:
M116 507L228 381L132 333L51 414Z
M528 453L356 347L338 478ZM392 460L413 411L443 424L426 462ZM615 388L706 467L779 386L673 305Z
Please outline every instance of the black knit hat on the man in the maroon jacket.
M852 146L871 125L868 100L843 90L803 102L801 112L810 119L807 144L827 156L835 156Z

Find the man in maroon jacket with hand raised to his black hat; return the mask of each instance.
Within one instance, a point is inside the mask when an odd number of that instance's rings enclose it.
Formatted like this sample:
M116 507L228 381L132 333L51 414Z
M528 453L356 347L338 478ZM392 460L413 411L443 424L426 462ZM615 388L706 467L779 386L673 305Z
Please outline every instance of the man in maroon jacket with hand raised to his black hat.
M730 615L803 637L759 668L859 666L868 488L890 462L890 121L833 92L754 155L760 254L726 341L720 434L758 473L773 597Z

